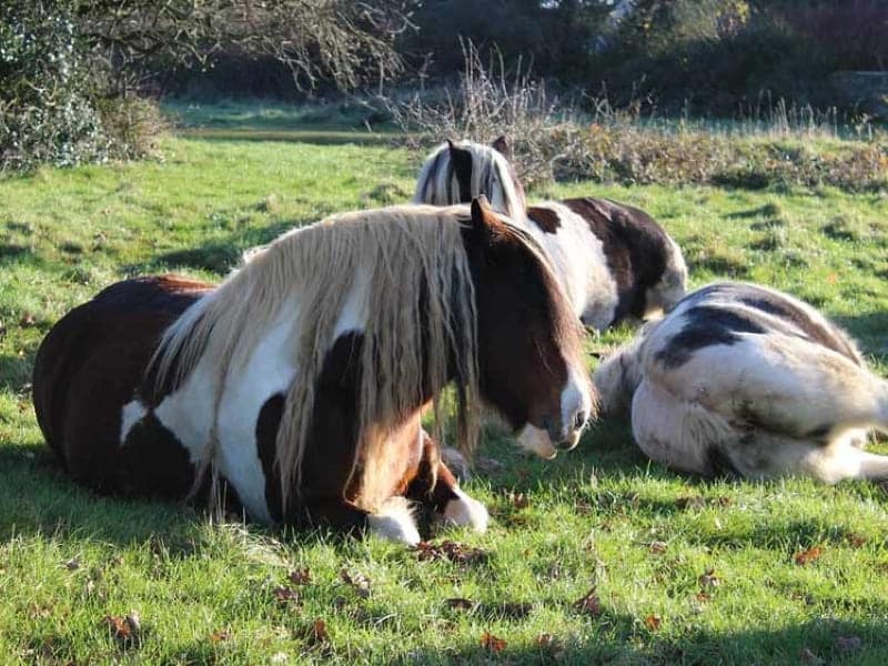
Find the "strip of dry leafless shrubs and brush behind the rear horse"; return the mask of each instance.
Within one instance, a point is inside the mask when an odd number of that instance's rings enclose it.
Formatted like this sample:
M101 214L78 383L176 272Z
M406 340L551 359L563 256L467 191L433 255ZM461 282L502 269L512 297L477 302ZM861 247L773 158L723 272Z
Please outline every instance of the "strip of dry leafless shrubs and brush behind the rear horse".
M739 121L718 125L658 119L647 99L615 108L603 91L585 98L581 111L549 97L527 70L509 73L498 58L485 65L472 43L464 57L455 90L389 98L389 112L417 148L445 138L491 142L506 134L518 176L531 188L553 180L888 186L885 134L868 123L842 131L834 110L770 103L763 95ZM845 140L846 133L855 140Z

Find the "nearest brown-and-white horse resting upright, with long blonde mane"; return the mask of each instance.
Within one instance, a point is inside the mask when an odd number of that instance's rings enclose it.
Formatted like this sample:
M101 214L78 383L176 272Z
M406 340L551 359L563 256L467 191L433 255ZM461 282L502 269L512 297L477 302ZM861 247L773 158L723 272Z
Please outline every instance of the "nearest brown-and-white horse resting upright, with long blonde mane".
M573 448L592 386L536 244L483 202L287 232L220 286L127 280L68 313L33 400L67 471L113 494L229 497L252 518L420 539L407 501L483 531L421 414L455 383L541 456ZM208 495L208 493L211 493Z

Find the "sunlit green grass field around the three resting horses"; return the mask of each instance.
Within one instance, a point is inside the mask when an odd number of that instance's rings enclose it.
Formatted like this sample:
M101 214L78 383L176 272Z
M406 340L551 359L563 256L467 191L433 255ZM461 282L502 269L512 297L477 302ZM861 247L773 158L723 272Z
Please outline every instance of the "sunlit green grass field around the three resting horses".
M888 663L886 490L679 476L648 464L622 422L552 463L492 434L486 471L467 484L492 528L431 535L480 549L454 561L211 525L69 482L29 394L40 339L68 309L128 275L218 280L294 224L412 194L420 155L335 128L335 141L297 124L238 132L165 140L160 162L0 182L1 662ZM577 183L534 194L579 193L658 218L694 285L737 278L815 303L888 374L886 193ZM138 632L123 619L133 612Z

